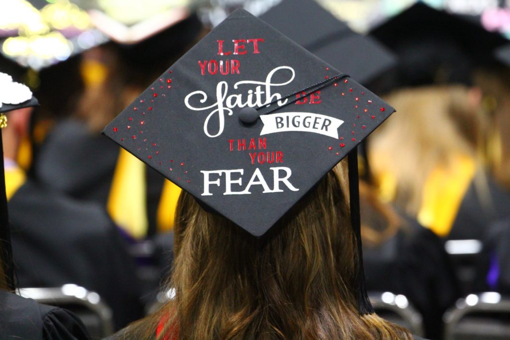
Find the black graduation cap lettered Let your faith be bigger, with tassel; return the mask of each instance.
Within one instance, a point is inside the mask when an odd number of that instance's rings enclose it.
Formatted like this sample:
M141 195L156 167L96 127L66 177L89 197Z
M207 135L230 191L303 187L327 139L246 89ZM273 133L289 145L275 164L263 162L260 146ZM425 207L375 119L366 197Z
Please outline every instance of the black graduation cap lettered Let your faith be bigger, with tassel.
M161 74L103 133L202 206L266 233L394 109L245 10ZM359 264L359 308L372 312Z

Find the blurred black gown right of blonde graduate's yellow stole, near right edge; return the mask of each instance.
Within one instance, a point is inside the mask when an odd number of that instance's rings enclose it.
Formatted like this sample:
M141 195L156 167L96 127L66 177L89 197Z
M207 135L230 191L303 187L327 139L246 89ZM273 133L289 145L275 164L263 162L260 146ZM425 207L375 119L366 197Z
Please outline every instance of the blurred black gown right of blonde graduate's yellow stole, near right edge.
M449 240L482 240L492 223L510 216L510 192L487 177L488 190L480 192L474 180L464 196L448 235ZM488 199L487 204L482 204Z

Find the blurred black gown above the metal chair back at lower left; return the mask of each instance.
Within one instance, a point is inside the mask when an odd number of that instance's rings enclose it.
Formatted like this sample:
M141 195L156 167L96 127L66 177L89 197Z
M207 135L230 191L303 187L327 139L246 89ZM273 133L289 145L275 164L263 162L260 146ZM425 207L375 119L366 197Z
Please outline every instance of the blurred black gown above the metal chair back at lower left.
M112 308L116 328L142 316L135 264L103 207L30 179L8 206L19 286L75 283L95 291Z

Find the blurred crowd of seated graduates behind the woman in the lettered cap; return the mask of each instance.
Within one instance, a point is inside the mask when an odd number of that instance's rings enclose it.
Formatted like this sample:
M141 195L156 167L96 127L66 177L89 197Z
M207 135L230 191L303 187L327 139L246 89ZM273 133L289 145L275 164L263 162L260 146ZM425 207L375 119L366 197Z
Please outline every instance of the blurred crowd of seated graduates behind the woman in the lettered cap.
M96 337L172 298L158 287L180 188L100 132L240 7L397 110L359 148L379 315L427 338L510 338L508 0L0 2L0 72L40 103L2 130L20 294Z

